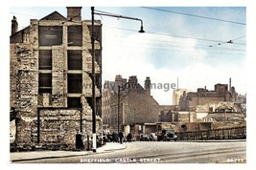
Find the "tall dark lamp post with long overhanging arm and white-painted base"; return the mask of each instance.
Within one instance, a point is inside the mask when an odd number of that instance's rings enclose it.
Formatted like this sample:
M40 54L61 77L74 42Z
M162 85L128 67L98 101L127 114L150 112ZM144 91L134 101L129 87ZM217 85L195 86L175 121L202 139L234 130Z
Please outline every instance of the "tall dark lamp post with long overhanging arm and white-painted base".
M128 17L128 16L123 16L123 15L117 15L105 11L95 11L94 7L91 7L91 48L92 48L92 137L93 137L93 142L92 142L92 151L96 152L97 148L97 143L96 143L96 97L95 97L95 33L94 33L94 14L99 14L99 15L105 15L109 17L116 17L116 18L124 18L124 19L130 19L130 20L137 20L141 22L141 27L140 27L140 33L145 32L143 30L143 21L139 18L133 18L133 17ZM118 105L119 107L119 105ZM119 111L118 111L119 112ZM119 122L119 114L118 114L118 122ZM118 123L118 130L119 130L119 123Z

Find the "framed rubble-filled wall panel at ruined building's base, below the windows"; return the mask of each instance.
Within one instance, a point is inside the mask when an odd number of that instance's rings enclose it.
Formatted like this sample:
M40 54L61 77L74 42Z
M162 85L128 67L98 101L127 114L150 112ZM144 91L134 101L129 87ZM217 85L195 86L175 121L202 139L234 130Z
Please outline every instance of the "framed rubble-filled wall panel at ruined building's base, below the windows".
M81 129L80 110L40 110L40 143L73 145Z

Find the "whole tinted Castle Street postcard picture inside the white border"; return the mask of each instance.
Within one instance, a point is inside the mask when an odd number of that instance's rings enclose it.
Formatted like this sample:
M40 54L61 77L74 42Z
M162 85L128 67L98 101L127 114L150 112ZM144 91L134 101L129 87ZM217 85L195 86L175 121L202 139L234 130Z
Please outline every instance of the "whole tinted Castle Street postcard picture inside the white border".
M11 164L246 164L246 7L9 20Z

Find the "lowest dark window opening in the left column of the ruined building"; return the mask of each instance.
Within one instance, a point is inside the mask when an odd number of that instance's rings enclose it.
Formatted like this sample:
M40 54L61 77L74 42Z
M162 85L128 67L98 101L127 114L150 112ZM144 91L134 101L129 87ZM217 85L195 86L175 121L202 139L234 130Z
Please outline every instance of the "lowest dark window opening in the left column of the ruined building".
M39 74L39 93L52 94L52 74Z

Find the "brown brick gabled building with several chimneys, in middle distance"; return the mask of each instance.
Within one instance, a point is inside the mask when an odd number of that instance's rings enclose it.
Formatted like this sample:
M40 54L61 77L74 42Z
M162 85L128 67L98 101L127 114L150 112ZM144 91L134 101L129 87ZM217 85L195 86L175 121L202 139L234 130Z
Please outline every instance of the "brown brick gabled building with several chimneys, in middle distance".
M118 116L118 86L120 90L120 112ZM146 77L145 85L138 83L136 76L128 80L117 75L115 81L106 81L103 90L103 121L109 131L120 130L130 124L158 122L159 104L151 96L151 79Z

